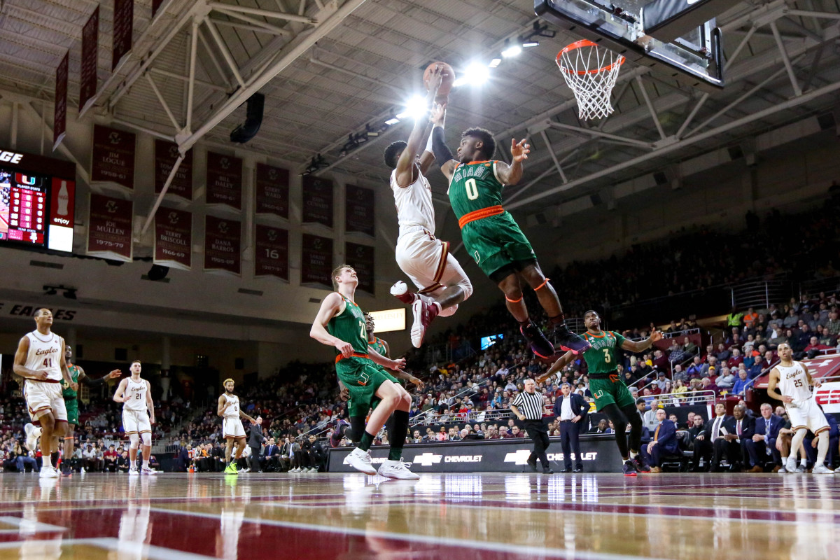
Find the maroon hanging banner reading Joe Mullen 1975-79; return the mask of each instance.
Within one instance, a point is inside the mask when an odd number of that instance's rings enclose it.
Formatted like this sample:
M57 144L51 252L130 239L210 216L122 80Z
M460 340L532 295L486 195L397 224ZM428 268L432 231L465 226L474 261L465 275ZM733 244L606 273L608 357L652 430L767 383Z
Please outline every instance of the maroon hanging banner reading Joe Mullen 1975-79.
M87 219L87 254L131 262L133 220L132 201L92 194Z

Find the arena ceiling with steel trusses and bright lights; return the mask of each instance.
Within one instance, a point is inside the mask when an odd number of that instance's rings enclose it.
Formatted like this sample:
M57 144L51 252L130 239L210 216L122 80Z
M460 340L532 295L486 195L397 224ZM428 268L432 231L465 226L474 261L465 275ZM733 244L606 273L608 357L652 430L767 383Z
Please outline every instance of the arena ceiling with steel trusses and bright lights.
M0 0L0 88L51 101L55 67L69 50L69 103L77 106L81 28L97 4ZM421 92L430 61L456 71L474 59L486 63L506 39L543 23L532 0L169 0L154 20L151 0L137 0L134 49L112 73L113 3L100 9L90 113L185 148L202 138L229 144L244 101L261 92L265 117L249 149L297 172L322 154L319 173L381 181L382 150L405 138L411 123L343 155L349 134L378 130L401 112ZM704 94L628 62L613 93L616 112L581 122L554 65L558 50L579 38L549 25L542 35L554 37L536 37L537 47L504 60L484 86L456 89L447 127L490 128L502 146L528 135L527 175L507 201L533 212L837 106L837 0L733 2L718 24L728 59L722 92ZM442 198L442 177L433 186Z

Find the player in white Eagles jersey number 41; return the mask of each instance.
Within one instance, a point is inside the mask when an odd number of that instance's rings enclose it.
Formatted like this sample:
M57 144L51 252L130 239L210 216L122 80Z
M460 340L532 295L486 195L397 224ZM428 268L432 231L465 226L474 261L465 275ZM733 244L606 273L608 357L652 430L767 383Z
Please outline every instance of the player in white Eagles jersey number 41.
M14 373L24 378L24 398L32 424L26 426L26 447L34 451L41 436L41 478L57 479L52 453L58 451L58 438L67 429L67 409L61 395L61 379L73 390L79 388L71 379L64 359L64 338L52 332L52 311L35 311L37 328L18 343L14 354ZM34 425L34 426L33 426Z

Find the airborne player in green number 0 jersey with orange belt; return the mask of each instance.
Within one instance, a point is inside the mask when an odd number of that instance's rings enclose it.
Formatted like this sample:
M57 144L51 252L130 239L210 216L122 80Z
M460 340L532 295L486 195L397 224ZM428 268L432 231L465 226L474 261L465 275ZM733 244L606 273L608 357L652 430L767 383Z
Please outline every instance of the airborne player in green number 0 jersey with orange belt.
M507 165L492 160L496 152L493 135L484 128L470 128L461 134L458 160L454 160L444 138L445 118L446 105L437 105L430 118L434 125L432 149L440 170L449 180L449 201L458 217L467 253L504 293L507 311L519 323L519 331L533 353L549 358L554 355L554 345L528 317L520 277L533 288L540 306L548 313L559 347L575 354L585 352L589 343L566 327L563 307L540 270L531 243L501 207L502 189L522 179L522 162L530 152L528 144L524 139L518 143L512 140L513 161Z

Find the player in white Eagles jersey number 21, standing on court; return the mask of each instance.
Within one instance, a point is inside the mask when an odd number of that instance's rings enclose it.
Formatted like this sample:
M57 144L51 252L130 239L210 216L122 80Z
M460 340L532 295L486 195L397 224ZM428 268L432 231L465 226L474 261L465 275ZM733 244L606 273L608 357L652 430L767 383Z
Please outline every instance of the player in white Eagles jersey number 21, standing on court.
M123 403L123 431L129 437L129 474L157 474L149 466L152 453L152 424L155 423L155 404L152 402L151 385L140 379L143 366L139 360L131 363L131 377L119 382L113 394L114 402ZM148 412L147 412L148 410ZM137 447L143 440L143 467L137 472Z

